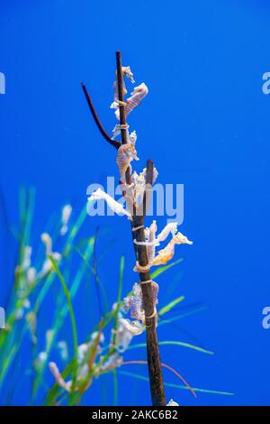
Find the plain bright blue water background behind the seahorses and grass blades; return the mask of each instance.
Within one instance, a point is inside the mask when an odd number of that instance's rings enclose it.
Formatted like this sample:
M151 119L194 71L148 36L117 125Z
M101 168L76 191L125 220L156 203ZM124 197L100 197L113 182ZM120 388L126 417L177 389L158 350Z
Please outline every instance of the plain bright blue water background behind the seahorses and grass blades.
M202 309L158 327L158 336L215 353L161 346L162 360L193 387L234 393L202 392L195 400L167 386L166 397L182 405L269 405L270 329L263 327L263 309L270 306L269 76L263 79L270 71L268 2L1 0L0 6L0 307L13 283L16 249L8 227L18 222L20 186L36 190L35 246L52 214L68 202L77 215L88 185L105 186L107 175L117 175L115 152L96 129L80 83L111 132L115 51L121 50L136 82L145 81L149 90L129 119L141 161L134 166L151 158L159 182L184 184L180 231L193 240L176 249L184 262L159 277L159 305L184 295L174 314ZM166 217L158 223L164 226ZM97 248L105 252L100 278L111 305L122 254L124 293L137 277L130 225L123 217L87 217L84 237L97 226ZM99 319L88 290L93 277L84 284L75 300L79 343ZM49 296L40 317L41 345L56 308L53 291ZM70 332L67 319L61 337L68 343ZM144 360L145 350L130 350L125 358ZM122 369L147 377L145 365ZM30 364L18 359L10 378L15 383L5 383L0 403L27 404ZM181 384L167 370L164 379ZM44 380L53 383L49 373ZM118 384L119 404L150 403L147 382L119 374ZM83 403L112 404L112 385L112 374L94 381Z

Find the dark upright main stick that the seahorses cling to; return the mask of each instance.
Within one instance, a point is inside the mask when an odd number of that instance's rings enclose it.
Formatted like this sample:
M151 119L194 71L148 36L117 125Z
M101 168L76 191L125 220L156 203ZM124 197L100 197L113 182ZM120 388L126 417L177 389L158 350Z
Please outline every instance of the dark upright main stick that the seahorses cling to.
M123 76L121 68L121 51L116 51L116 65L117 65L117 83L118 83L118 98L120 100L119 110L120 110L120 124L126 124L126 115L125 115L125 106L124 106L124 94L123 94ZM128 130L121 129L121 143L128 143ZM143 199L143 213L136 214L136 209L133 206L135 211L131 228L139 229L137 231L132 231L132 238L136 238L138 242L145 242L144 235L144 217L146 214L147 199L149 190L153 183L153 170L154 164L153 161L148 160L147 162L147 175L146 175L146 190ZM130 185L131 176L130 176L130 167L126 171L126 182ZM138 211L139 212L139 211ZM136 256L137 261L140 266L148 265L148 253L145 245L137 245L136 247ZM150 281L149 272L139 273L140 281ZM152 398L152 404L154 406L165 406L166 398L164 392L164 383L162 376L161 360L157 339L157 327L155 316L155 305L152 295L151 283L141 284L142 290L142 300L144 304L144 311L146 316L146 336L147 336L147 358L148 358L148 375L150 383L150 392ZM151 318L148 318L151 317Z

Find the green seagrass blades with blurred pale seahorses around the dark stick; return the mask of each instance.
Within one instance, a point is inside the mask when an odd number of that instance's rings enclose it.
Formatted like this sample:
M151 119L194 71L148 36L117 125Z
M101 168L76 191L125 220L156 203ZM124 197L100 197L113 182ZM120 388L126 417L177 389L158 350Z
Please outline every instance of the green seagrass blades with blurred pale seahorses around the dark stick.
M64 206L58 217L49 220L37 246L31 244L36 235L32 231L33 208L34 191L22 189L19 228L16 230L10 226L17 242L18 258L14 270L14 285L6 308L5 329L0 331L0 401L2 404L13 403L14 391L20 390L19 382L24 384L25 379L31 380L31 397L27 404L40 404L43 398L42 403L45 405L77 405L81 403L94 380L106 373L112 373L113 403L117 404L117 373L128 375L129 373L121 371L123 366L145 364L144 361L127 361L124 358L124 354L131 348L145 347L143 343L132 343L134 337L145 331L145 327L141 325L145 312L140 286L135 284L130 293L122 295L124 258L121 257L117 300L109 308L106 290L97 272L97 234L87 239L79 237L87 216L85 207L76 217L70 205ZM65 231L62 230L63 226ZM179 260L153 272L152 280L158 279L159 275L177 263ZM102 298L105 309L99 322L93 322L91 331L79 343L74 302L76 297L80 299L84 281L89 284L89 275L94 277L97 295ZM157 283L152 282L151 290L156 305ZM49 303L53 303L52 299L55 302L48 317L47 302L49 300ZM155 311L160 325L170 322L170 319L162 318L183 300L184 297L180 296L158 312ZM129 311L131 320L125 318ZM194 309L193 312L197 310ZM64 334L61 332L68 317L72 329L71 340L67 336L68 331L64 331ZM163 346L171 344L211 355L211 352L200 346L180 341L161 342ZM23 368L20 368L18 365L22 358ZM175 373L175 370L172 372ZM131 374L130 378L144 377ZM49 391L44 391L44 387L53 379L55 383ZM187 387L193 391L188 384L178 384L176 387Z

